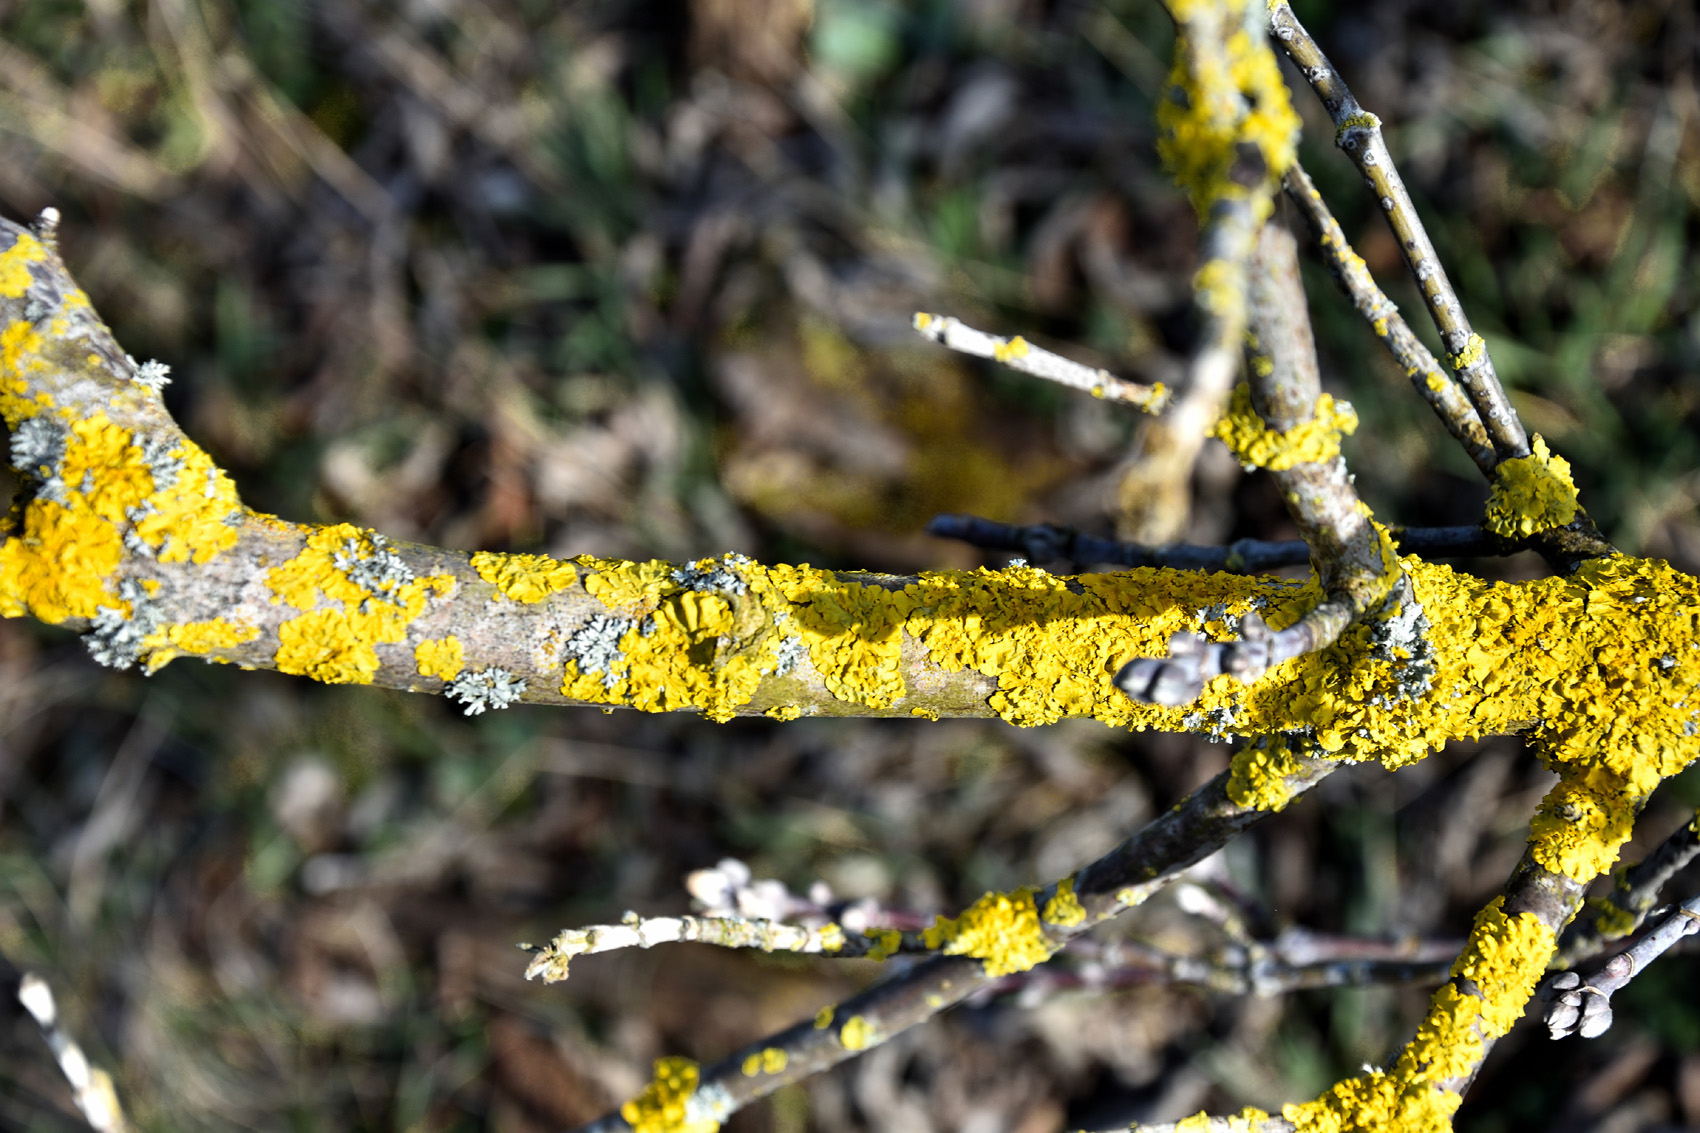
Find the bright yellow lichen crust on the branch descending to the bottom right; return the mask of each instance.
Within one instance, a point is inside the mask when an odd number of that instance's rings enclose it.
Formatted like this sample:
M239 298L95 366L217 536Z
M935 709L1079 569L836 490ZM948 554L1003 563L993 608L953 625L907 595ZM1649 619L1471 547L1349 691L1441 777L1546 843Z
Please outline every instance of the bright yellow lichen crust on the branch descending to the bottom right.
M1503 902L1496 898L1476 917L1464 954L1452 965L1452 975L1469 980L1477 994L1447 983L1392 1070L1336 1082L1316 1101L1285 1106L1282 1116L1302 1133L1450 1131L1462 1099L1442 1084L1474 1070L1486 1039L1511 1029L1557 944L1552 929L1532 914L1506 917Z

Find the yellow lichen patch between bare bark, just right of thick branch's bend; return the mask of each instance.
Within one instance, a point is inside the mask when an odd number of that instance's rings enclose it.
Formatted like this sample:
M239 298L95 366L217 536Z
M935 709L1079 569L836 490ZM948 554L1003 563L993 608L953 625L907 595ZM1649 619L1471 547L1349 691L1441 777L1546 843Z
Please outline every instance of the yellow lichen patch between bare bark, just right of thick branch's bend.
M277 628L275 663L328 684L371 684L379 669L377 645L394 645L425 612L432 594L454 587L454 575L400 577L382 592L357 582L343 563L381 563L389 555L374 536L354 524L316 527L306 548L267 572L272 602L303 611ZM326 604L328 602L328 604Z

